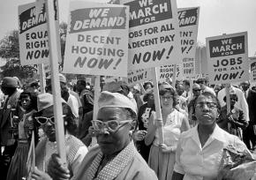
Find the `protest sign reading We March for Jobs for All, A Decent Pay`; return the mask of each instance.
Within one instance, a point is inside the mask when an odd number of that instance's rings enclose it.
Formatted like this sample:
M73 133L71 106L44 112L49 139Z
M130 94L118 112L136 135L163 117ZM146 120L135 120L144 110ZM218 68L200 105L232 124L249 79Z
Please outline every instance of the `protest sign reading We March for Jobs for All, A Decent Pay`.
M181 63L175 0L121 0L130 6L129 70Z

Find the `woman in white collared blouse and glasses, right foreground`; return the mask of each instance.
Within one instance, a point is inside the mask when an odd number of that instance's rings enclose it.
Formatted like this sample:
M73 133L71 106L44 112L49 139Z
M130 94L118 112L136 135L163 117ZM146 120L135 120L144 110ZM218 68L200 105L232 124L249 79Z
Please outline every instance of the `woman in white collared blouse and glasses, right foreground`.
M248 151L240 139L216 124L219 115L220 103L216 96L207 92L200 94L195 101L199 124L181 135L173 180L214 180L219 173L223 148L233 146Z

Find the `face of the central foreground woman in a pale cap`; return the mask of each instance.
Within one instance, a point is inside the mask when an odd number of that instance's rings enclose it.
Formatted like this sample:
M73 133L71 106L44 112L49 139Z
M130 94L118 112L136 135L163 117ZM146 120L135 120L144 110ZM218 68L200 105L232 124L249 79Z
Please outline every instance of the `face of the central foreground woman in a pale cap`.
M97 119L104 123L110 120L120 122L128 120L124 110L119 108L102 108L98 112ZM117 131L109 131L106 126L103 130L99 131L96 137L102 153L115 154L124 149L131 141L129 136L130 129L131 125L124 124L122 127L117 128Z

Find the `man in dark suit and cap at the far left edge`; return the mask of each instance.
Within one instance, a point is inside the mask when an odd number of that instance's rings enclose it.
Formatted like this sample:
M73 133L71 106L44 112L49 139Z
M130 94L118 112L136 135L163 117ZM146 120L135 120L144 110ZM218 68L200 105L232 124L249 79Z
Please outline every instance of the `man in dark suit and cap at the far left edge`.
M1 158L0 158L0 169L1 177L4 177L7 174L9 165L11 162L11 157L15 152L17 141L14 138L13 130L13 116L18 113L17 106L19 101L19 91L17 90L18 80L5 77L3 79L1 90L7 99L4 101L4 108L0 112L0 139L1 139ZM2 153L2 147L4 151Z

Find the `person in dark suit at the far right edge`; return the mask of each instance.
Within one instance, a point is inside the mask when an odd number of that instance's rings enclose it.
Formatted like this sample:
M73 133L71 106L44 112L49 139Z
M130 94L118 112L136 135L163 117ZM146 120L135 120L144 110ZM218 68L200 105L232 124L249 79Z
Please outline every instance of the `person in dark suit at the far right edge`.
M250 89L249 81L241 82L240 86L243 89L245 99L248 103L250 118L248 127L245 129L245 131L243 131L244 142L248 149L253 150L256 148L256 91Z

